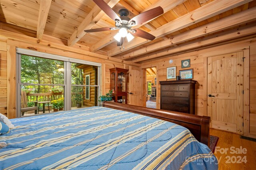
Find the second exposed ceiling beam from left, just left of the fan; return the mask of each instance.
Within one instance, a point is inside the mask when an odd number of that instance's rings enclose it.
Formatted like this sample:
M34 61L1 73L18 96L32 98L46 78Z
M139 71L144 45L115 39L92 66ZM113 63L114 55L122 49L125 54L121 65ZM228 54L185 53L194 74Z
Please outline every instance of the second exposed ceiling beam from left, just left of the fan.
M119 0L105 0L105 2L108 4L108 6L113 8L113 6L115 6ZM98 5L95 5L90 13L84 18L82 23L78 26L78 28L70 36L68 46L72 46L78 42L86 34L84 30L91 29L104 15L105 13L98 7Z

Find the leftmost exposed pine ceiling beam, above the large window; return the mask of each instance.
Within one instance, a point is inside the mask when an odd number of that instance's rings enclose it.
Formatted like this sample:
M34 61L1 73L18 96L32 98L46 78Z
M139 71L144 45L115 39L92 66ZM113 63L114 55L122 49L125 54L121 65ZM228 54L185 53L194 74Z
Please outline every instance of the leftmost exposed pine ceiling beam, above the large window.
M36 32L36 38L38 38L39 40L42 40L42 37L44 34L44 28L45 28L46 20L47 20L48 13L50 10L51 2L52 2L52 0L41 0L40 1L37 32Z

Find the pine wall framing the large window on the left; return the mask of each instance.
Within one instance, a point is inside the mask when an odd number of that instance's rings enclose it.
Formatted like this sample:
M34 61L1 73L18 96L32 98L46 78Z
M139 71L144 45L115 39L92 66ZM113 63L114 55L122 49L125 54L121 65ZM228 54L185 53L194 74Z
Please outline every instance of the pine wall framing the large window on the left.
M74 47L68 47L61 40L50 36L44 35L42 40L38 40L5 30L0 32L0 113L7 114L10 119L16 118L16 47L101 63L101 94L105 94L110 89L110 68L125 68L125 65L140 66L131 61L92 53L83 45L76 44Z

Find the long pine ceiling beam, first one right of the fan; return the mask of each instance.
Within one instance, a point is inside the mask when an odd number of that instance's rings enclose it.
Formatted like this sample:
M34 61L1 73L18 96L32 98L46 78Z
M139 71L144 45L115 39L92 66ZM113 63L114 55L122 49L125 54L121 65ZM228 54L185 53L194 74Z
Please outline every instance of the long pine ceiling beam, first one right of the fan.
M193 24L206 20L212 16L221 14L222 12L225 12L227 10L240 6L242 4L246 4L250 1L252 0L232 0L232 1L214 0L213 2L210 2L205 6L202 6L188 14L185 14L184 16L177 18L176 20L173 20L172 22L169 22L157 28L156 31L151 31L149 33L156 36L156 38L160 38L172 32L178 31L182 28L186 28L188 26L191 26ZM120 49L120 47L115 47L114 49L109 50L107 52L107 55L114 56L121 52L132 49L134 47L138 47L139 45L142 45L147 42L148 40L137 37L137 38L134 38L128 45L126 45L125 49L123 48Z

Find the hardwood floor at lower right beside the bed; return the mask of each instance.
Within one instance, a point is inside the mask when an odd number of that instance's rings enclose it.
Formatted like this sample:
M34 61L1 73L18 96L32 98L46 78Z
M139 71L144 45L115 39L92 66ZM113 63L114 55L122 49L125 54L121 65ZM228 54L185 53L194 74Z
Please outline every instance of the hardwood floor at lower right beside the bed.
M256 170L256 142L240 139L239 134L222 130L210 129L210 134L219 137L217 147L220 148L214 151L219 170Z

